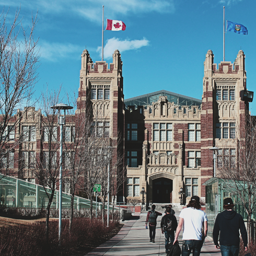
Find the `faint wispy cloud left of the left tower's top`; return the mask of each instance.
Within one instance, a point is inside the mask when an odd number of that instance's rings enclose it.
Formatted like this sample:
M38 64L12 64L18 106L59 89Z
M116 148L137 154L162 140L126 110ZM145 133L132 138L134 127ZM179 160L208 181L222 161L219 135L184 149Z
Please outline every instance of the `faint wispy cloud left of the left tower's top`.
M40 44L41 58L48 61L60 61L60 59L67 57L74 58L74 56L79 56L79 52L81 50L80 46L71 43L50 43L40 40Z

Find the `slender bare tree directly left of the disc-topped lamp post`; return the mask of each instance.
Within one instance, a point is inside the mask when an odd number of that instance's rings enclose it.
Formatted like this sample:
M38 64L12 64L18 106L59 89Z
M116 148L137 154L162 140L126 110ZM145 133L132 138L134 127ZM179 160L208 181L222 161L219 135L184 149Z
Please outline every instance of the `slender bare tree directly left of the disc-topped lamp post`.
M61 90L61 89L60 89ZM46 239L49 236L49 218L50 208L53 202L54 192L59 183L60 174L60 137L59 127L57 126L57 110L51 109L51 106L55 106L60 103L59 95L60 90L47 91L42 94L42 117L40 122L41 133L41 150L36 155L36 169L34 176L38 178L39 184L43 186L46 196L48 197L48 203L46 206Z

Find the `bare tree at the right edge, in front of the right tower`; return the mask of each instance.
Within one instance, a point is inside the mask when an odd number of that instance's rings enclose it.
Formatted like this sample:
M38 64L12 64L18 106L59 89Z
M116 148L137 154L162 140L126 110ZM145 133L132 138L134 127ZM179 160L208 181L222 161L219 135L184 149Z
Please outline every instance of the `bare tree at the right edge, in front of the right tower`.
M256 210L256 126L255 117L247 115L245 124L237 125L232 145L219 150L218 176L224 179L225 188L236 195L248 217L247 234L251 238L251 216ZM235 152L235 147L236 150Z

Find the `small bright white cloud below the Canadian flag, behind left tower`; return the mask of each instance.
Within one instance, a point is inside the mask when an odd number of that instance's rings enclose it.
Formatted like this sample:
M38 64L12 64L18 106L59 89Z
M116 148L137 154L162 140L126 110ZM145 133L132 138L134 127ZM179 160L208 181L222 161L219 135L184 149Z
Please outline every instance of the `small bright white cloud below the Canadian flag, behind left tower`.
M118 38L108 39L106 45L104 46L104 59L110 59L114 50L119 50L120 52L128 51L128 50L137 50L142 48L142 46L147 46L149 41L146 38L142 40L124 40L121 41ZM100 53L101 56L101 46L98 47L97 52Z

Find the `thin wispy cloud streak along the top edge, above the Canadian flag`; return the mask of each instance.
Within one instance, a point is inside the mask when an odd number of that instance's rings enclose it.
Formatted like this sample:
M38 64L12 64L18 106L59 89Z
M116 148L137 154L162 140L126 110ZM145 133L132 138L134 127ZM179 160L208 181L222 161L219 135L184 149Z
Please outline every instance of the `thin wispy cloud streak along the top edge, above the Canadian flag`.
M11 7L19 7L20 0L0 0L0 4ZM98 21L102 19L102 4L105 5L106 17L118 19L129 14L140 13L173 13L174 0L24 0L21 9L39 10L41 14L66 14L79 15L85 19Z

